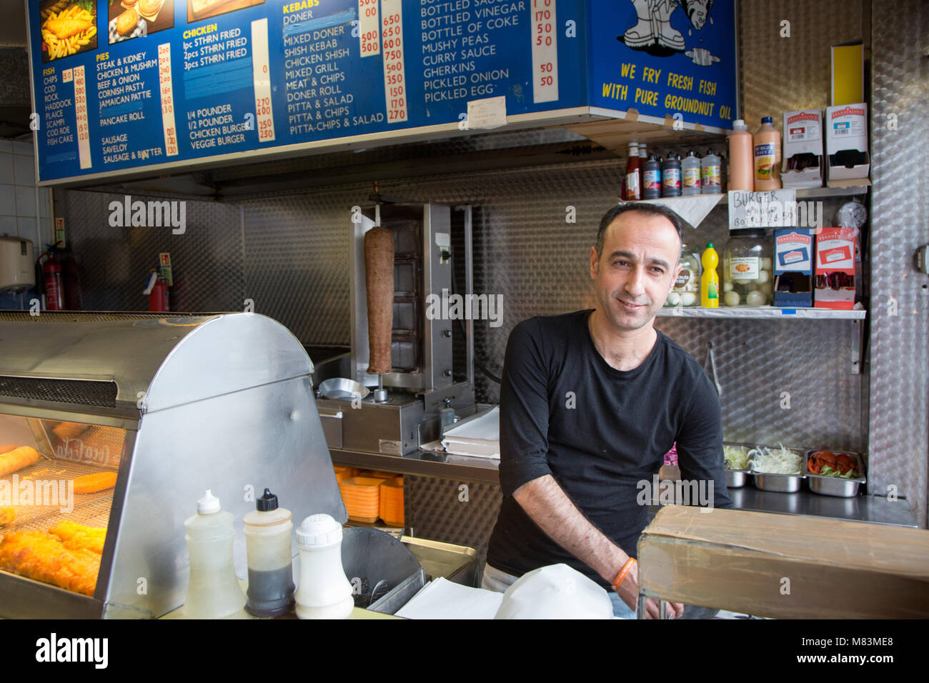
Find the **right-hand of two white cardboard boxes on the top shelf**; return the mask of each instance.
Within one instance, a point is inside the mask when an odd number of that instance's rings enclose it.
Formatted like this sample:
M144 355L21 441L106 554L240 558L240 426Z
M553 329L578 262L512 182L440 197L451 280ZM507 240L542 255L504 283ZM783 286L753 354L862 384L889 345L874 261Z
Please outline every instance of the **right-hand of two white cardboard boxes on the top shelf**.
M870 185L868 105L857 103L827 107L825 126L829 187Z

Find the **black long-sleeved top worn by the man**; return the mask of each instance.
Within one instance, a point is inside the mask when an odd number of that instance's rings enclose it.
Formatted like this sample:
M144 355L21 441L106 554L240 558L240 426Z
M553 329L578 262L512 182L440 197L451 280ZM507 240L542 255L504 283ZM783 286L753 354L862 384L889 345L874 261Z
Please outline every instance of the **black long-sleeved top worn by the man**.
M617 370L594 346L590 312L531 318L510 335L500 388L504 502L487 561L516 576L564 562L608 587L551 540L513 492L552 475L583 515L632 557L648 522L641 503L651 502L652 477L674 441L681 478L702 485L704 500L712 481L715 507L732 501L719 399L700 364L656 330L648 358L633 370Z

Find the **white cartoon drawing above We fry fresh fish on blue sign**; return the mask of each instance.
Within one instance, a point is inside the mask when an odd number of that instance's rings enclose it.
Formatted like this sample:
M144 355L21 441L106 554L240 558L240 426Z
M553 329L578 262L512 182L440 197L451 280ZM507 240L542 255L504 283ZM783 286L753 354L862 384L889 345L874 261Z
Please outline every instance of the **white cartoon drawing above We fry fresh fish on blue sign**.
M711 24L710 10L713 0L630 0L635 7L635 25L631 26L617 40L634 50L648 52L655 57L670 57L684 52L694 64L710 66L719 58L705 47L695 46L686 50L684 34L671 25L674 11L681 9L690 25L698 31L707 21Z

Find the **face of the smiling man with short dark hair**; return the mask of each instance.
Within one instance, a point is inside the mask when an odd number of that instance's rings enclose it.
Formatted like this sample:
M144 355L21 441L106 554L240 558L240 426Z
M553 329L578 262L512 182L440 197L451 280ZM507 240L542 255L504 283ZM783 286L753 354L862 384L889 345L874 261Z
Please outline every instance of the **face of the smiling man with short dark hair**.
M629 211L610 223L602 255L591 248L590 274L615 329L637 330L654 320L681 270L680 253L677 230L665 217Z

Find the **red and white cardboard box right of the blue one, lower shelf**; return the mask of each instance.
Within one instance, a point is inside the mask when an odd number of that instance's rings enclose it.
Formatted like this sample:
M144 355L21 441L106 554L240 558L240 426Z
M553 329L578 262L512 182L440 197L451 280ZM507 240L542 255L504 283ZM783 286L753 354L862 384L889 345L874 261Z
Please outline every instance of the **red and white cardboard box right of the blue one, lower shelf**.
M857 230L823 228L816 240L817 309L855 308Z

